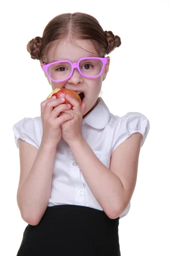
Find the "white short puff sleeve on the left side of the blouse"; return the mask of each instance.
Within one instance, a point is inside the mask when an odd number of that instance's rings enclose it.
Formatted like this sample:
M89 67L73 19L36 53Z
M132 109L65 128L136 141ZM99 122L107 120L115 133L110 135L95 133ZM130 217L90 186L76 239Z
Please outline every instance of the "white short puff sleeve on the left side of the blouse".
M19 138L33 145L34 147L40 147L41 143L41 130L40 130L40 118L37 122L37 118L25 117L12 127L14 131L15 144L19 148Z

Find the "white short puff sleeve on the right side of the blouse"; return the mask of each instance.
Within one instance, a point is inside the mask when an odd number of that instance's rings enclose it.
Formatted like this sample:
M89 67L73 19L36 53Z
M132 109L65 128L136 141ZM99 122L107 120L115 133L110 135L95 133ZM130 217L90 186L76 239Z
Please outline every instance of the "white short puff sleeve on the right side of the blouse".
M150 123L146 116L139 112L128 112L125 116L119 118L119 130L113 141L112 152L129 138L132 134L139 132L142 134L142 145L150 129Z

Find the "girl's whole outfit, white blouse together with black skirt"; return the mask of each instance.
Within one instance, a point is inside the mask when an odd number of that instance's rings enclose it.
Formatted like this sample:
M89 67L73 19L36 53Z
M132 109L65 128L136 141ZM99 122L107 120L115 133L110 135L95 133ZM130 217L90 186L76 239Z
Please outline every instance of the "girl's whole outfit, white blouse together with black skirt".
M149 121L142 113L115 116L102 98L82 120L83 137L108 169L111 154L118 145L136 132L142 134L143 145L149 129ZM21 138L39 149L41 116L23 118L14 124L13 131L17 148ZM61 138L57 145L48 207L38 225L27 225L17 256L120 256L119 219L125 217L129 209L130 203L115 219L105 214L85 182L68 144Z

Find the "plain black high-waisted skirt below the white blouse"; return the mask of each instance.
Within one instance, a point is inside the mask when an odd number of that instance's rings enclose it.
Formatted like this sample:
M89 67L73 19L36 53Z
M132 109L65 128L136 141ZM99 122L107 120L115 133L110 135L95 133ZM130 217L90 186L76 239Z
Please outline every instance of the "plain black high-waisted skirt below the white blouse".
M38 225L27 225L17 256L120 256L118 226L119 217L90 207L47 207Z

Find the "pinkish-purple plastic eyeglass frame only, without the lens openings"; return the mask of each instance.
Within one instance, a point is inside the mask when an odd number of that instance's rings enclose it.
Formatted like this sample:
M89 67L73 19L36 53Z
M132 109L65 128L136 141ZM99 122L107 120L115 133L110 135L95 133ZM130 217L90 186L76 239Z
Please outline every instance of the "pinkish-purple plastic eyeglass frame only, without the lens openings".
M99 59L100 61L102 61L103 67L102 67L102 70L100 71L100 73L99 73L98 76L86 76L86 75L84 75L84 74L81 72L81 70L80 70L80 68L79 68L79 63L80 63L80 61L83 61L83 60L86 60L86 59ZM70 75L67 77L67 79L63 79L63 80L56 81L56 80L54 80L54 79L50 76L50 74L48 73L48 67L51 66L51 65L53 65L53 64L60 63L60 62L68 62L68 63L70 63L70 64L71 64L71 73L70 73ZM43 62L43 63L45 63L45 62ZM104 68L105 68L105 64L107 64L107 63L108 63L108 59L107 59L107 58L89 57L89 58L81 58L81 59L79 59L78 62L75 62L75 63L72 63L71 61L68 61L68 60L54 61L54 62L51 62L51 63L48 63L48 64L43 65L43 66L42 66L42 70L46 72L47 76L48 76L53 82L59 83L59 82L63 82L63 81L66 81L66 80L70 79L71 76L73 75L73 71L74 71L75 68L78 69L80 75L82 75L82 76L84 76L84 77L86 77L86 78L96 78L96 77L99 77L99 76L102 75L102 72L103 72L103 70L104 70Z

